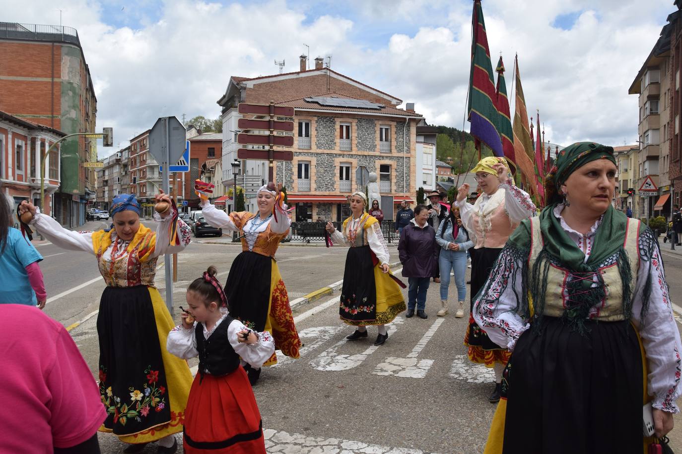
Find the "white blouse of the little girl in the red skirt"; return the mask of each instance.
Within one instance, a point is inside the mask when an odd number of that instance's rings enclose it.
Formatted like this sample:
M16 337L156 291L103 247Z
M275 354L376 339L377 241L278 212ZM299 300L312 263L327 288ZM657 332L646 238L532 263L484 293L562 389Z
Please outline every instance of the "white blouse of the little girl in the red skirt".
M166 340L168 352L180 359L190 359L198 356L199 352L196 350L196 335L194 334L194 329L201 327L201 329L204 330L204 338L208 339L211 334L216 332L216 328L226 317L227 314L224 313L211 331L206 329L205 324L196 321L194 322L194 326L189 329L186 329L183 325L177 325L168 333L168 340ZM239 355L243 361L246 361L251 366L258 369L263 366L263 363L265 363L273 353L275 353L275 341L268 331L263 331L256 333L258 342L255 344L239 342L239 331L242 329L248 328L244 326L241 321L234 319L227 328L227 338L237 355Z

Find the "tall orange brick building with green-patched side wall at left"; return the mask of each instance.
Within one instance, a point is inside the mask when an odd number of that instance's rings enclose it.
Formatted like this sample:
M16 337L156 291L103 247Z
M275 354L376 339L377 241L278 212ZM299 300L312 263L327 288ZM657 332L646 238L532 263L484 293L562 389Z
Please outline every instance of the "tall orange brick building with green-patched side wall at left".
M66 134L95 131L97 99L76 29L0 22L0 61L0 110ZM95 140L67 140L60 156L53 214L72 227L95 197L95 172L83 167L96 161Z

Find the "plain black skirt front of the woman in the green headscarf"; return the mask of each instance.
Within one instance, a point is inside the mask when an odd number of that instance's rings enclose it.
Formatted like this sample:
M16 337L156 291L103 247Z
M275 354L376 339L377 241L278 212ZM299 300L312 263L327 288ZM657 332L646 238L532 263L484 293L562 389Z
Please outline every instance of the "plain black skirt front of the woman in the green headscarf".
M627 321L584 334L544 317L516 343L502 380L503 453L641 454L642 354Z

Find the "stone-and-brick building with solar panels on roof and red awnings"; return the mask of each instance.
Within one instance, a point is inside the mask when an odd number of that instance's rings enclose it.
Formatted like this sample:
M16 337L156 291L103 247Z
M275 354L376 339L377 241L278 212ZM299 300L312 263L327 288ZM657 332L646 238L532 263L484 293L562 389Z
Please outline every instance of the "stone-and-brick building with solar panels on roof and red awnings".
M394 216L400 201L413 200L421 115L397 108L402 103L397 97L323 67L322 59L315 59L315 68L306 71L305 56L298 72L229 80L218 100L224 181L233 178L231 163L239 148L237 105L269 101L295 108L289 118L294 122L294 159L278 161L275 172L276 181L287 188L289 204L296 206L295 221L342 221L349 216L347 197L364 191L370 172L378 177L386 219ZM267 161L241 161L238 181L246 184L247 210L255 209L254 188L267 177Z

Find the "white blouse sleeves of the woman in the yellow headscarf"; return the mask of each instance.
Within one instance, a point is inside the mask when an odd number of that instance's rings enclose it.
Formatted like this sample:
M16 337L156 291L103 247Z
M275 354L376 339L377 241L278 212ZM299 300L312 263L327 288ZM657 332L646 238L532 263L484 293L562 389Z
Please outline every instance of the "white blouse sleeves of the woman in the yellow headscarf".
M514 180L509 178L507 182L500 184L499 189L505 190L505 212L512 223L518 224L525 218L529 218L537 215L537 210L535 204L531 201L531 196L528 195L526 191L523 191L514 184ZM481 201L479 202L479 209L483 210L486 207L490 198L494 194L488 195L486 193L481 193ZM469 232L469 238L476 244L476 229L473 225L473 204L470 204L466 199L462 201L456 201L455 205L460 209L460 217L462 218L462 224L467 232Z

